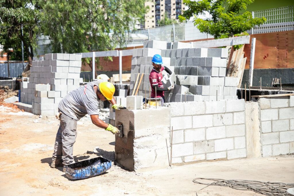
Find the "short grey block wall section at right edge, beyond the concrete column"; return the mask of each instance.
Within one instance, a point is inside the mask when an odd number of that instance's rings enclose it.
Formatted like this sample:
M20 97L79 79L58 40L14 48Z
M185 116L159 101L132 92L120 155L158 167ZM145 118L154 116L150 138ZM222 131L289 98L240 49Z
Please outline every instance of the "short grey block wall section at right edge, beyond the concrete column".
M259 98L262 156L294 153L294 96Z

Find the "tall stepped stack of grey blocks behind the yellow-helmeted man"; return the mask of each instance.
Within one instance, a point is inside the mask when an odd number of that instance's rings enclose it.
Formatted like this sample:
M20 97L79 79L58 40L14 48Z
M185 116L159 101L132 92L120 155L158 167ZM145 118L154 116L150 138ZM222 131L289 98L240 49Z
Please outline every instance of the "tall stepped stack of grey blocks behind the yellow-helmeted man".
M61 99L80 86L81 55L46 54L32 65L29 82L21 84L21 102L31 104L34 114L54 116Z

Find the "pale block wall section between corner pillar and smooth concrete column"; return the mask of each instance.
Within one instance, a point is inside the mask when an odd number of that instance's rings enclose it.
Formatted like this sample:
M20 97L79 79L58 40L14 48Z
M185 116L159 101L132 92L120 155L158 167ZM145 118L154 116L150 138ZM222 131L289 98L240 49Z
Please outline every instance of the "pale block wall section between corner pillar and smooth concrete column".
M171 109L172 163L247 156L244 99L165 106Z

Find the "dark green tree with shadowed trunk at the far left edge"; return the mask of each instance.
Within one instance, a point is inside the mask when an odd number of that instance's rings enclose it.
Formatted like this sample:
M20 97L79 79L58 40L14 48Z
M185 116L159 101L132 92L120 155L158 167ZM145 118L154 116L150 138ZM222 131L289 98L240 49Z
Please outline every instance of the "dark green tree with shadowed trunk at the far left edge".
M7 52L8 59L22 59L21 41L24 43L25 59L33 59L38 8L34 0L0 0L0 44L3 45L3 52Z

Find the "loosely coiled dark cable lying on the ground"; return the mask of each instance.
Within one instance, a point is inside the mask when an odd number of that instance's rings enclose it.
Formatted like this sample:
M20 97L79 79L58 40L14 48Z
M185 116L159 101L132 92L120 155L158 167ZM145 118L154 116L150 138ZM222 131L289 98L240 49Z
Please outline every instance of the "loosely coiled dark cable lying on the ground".
M212 183L202 183L199 180L211 180L214 181ZM237 190L251 190L256 193L260 193L268 196L289 196L287 193L287 189L293 188L294 184L286 184L281 182L260 182L253 180L223 180L223 179L213 179L213 178L195 178L193 182L207 185L216 185L216 186L225 186L231 187ZM198 190L197 192L203 190L204 188ZM197 195L196 192L196 195ZM197 195L198 196L198 195Z

